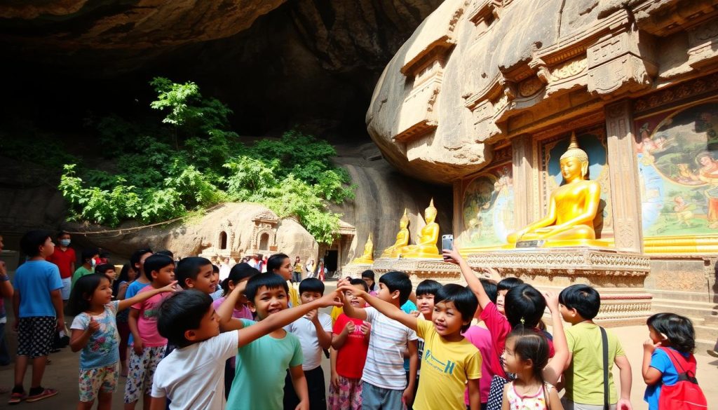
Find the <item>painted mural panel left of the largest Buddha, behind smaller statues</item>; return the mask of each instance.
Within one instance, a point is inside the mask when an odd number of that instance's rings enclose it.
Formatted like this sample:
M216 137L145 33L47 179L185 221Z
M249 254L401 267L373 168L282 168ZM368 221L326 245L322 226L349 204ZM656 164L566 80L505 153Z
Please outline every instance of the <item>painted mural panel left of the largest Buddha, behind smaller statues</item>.
M464 190L462 246L498 246L514 230L511 164L477 175Z

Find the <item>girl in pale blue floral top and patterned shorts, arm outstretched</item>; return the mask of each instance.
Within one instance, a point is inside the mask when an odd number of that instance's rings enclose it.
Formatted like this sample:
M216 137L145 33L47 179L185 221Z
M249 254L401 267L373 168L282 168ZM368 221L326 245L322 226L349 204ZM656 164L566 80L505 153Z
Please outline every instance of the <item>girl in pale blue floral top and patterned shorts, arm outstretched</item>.
M80 404L78 409L110 409L118 379L118 311L144 302L161 292L172 292L176 282L160 289L141 292L131 299L112 301L112 287L104 274L83 276L75 282L68 311L75 315L70 326L70 348L80 354Z

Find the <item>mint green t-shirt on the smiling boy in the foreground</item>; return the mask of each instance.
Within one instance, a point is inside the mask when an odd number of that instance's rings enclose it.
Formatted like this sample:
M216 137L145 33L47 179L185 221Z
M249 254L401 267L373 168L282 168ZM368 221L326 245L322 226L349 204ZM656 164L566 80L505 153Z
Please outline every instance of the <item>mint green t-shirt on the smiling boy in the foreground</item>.
M242 319L245 327L256 322ZM281 339L264 335L237 350L236 375L227 409L282 410L286 369L302 365L299 338L286 332Z

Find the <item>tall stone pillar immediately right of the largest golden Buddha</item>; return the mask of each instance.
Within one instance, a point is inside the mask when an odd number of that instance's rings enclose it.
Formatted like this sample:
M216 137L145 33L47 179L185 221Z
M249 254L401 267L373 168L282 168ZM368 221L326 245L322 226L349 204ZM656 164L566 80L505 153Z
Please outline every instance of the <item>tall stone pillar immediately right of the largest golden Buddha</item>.
M630 101L605 106L605 114L615 247L619 251L643 252L638 164Z

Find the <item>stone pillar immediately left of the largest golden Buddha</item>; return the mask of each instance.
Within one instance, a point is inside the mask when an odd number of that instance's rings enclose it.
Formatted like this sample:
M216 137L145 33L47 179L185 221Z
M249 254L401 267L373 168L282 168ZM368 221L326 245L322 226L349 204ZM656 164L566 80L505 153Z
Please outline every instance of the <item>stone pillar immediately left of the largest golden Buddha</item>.
M511 139L513 149L513 226L519 229L533 221L533 147L531 136L523 134Z

